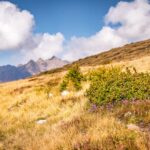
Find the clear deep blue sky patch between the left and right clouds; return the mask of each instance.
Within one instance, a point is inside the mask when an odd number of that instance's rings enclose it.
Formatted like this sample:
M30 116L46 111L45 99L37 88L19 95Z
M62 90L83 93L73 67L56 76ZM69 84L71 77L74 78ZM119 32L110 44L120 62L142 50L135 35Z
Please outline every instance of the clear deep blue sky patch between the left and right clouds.
M119 0L11 0L35 17L35 32L61 32L65 38L90 36L104 25L103 19Z

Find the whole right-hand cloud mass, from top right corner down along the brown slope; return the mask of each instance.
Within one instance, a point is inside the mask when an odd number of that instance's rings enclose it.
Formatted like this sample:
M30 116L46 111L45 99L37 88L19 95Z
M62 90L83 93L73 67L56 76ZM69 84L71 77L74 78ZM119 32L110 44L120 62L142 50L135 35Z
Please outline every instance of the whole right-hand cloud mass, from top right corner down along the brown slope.
M73 37L66 46L65 59L75 60L80 57L99 53L150 38L150 4L148 0L121 1L111 7L105 16L105 26L88 38Z

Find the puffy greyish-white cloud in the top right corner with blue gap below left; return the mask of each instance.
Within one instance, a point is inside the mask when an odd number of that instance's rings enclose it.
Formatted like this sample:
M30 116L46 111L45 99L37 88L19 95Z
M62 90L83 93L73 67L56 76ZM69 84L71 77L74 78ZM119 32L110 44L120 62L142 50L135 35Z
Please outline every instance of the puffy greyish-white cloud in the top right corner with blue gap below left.
M148 0L120 2L106 15L107 24L120 24L116 34L128 41L150 38L150 4Z

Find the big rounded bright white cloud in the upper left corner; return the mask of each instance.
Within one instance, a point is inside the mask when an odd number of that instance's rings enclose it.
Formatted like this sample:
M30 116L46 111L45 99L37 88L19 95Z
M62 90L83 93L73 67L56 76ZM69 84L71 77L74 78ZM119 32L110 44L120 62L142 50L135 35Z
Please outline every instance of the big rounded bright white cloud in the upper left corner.
M0 50L19 48L31 34L33 15L10 2L0 2Z

